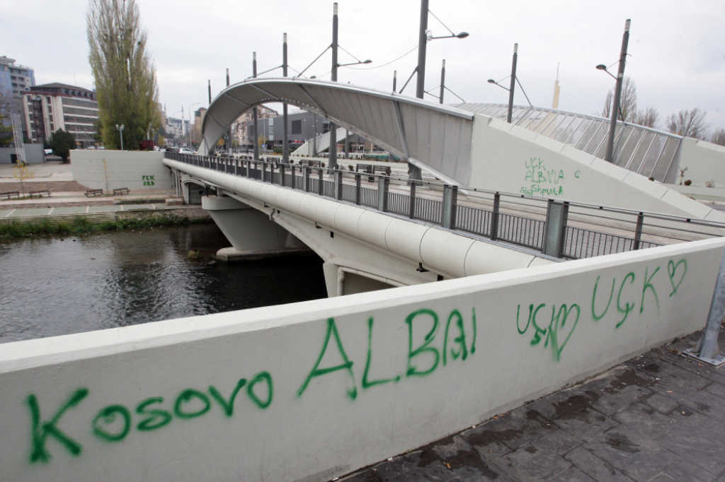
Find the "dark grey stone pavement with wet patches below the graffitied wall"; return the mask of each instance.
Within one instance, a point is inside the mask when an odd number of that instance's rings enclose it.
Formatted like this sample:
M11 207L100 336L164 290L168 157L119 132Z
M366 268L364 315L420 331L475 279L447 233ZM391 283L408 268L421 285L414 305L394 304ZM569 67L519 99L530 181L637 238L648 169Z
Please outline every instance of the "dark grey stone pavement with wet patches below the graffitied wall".
M725 482L725 365L682 353L700 336L339 481Z

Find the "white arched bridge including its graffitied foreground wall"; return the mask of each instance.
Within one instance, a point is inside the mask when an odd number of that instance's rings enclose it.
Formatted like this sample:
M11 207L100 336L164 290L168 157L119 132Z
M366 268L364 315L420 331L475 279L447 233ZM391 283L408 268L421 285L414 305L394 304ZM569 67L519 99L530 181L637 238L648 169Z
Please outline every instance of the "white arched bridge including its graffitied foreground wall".
M705 325L725 248L717 214L566 145L291 80L220 94L204 143L239 109L304 96L439 180L167 156L179 193L201 192L236 251L302 242L333 296L0 346L2 475L325 481ZM494 153L523 162L497 174ZM479 185L521 164L537 180L553 170L535 184L556 193ZM589 202L607 190L613 206Z

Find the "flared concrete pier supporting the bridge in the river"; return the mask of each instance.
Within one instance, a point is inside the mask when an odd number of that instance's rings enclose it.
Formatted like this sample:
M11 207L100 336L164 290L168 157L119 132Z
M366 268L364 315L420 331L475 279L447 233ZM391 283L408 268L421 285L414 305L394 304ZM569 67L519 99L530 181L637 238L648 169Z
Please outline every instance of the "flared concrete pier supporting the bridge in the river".
M270 213L227 196L203 196L202 208L209 212L231 248L217 253L220 261L270 258L310 251L310 248L271 219Z

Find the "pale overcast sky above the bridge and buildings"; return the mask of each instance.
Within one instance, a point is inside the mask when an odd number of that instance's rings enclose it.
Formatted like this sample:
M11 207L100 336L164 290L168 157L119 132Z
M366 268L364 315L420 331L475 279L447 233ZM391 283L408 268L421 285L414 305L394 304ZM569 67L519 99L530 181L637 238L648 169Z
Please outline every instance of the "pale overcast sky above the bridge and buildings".
M137 0L154 59L159 101L167 115L207 106L231 83L282 62L282 35L289 35L290 74L301 71L331 43L331 0ZM35 69L36 83L93 88L88 66L88 0L0 0L0 55ZM339 0L339 43L373 63L339 69L339 82L398 90L417 63L419 0ZM616 64L624 22L631 18L626 75L637 85L638 106L655 107L664 119L698 107L711 130L725 127L725 3L722 0L429 0L430 11L465 39L428 43L426 90L440 83L468 102L507 103L508 92L486 83L510 74L518 42L517 76L535 106L552 106L559 65L559 109L595 114L614 80L595 69ZM450 35L432 15L433 35ZM406 52L410 54L403 56ZM340 51L340 63L355 59ZM402 59L392 62L399 57ZM612 71L616 73L616 65ZM331 56L305 75L329 80ZM281 77L281 70L268 74ZM507 83L508 84L508 83ZM436 89L437 93L437 89ZM415 78L404 94L415 96ZM433 97L429 100L435 101ZM446 95L446 103L456 101ZM526 104L521 92L516 104ZM186 114L188 115L188 114Z

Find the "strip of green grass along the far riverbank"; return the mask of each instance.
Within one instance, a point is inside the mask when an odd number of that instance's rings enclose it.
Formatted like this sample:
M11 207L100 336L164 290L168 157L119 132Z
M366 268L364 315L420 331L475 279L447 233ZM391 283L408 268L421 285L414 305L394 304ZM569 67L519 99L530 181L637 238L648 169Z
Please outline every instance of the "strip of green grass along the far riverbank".
M0 241L17 240L25 237L68 236L70 234L90 234L93 232L114 231L120 229L143 229L151 227L188 226L211 222L211 219L188 219L187 216L150 216L143 219L119 219L93 223L84 216L77 216L72 221L54 222L50 219L42 221L22 222L13 220L0 224Z

